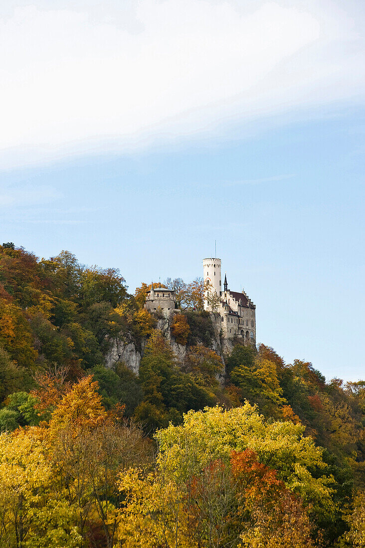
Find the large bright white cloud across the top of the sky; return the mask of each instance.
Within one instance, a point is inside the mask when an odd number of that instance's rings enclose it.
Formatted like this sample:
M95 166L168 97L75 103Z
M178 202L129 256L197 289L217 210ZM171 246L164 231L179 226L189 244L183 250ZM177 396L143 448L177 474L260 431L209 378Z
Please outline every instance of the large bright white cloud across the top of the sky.
M0 11L3 168L219 134L363 92L361 14L334 2L120 4Z

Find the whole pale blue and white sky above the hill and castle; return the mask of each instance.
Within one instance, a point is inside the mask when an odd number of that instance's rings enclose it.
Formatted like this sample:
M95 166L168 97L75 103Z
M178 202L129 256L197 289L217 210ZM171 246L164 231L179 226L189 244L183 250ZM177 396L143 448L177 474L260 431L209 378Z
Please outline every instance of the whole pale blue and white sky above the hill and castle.
M142 281L222 259L257 342L365 378L365 7L0 4L0 238Z

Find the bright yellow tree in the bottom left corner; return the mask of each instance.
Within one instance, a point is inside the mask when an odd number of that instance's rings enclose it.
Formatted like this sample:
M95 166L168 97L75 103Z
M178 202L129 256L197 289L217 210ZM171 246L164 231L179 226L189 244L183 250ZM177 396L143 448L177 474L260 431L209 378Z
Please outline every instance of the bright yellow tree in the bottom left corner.
M36 433L0 435L0 491L0 545L80 546L74 507L56 488Z

